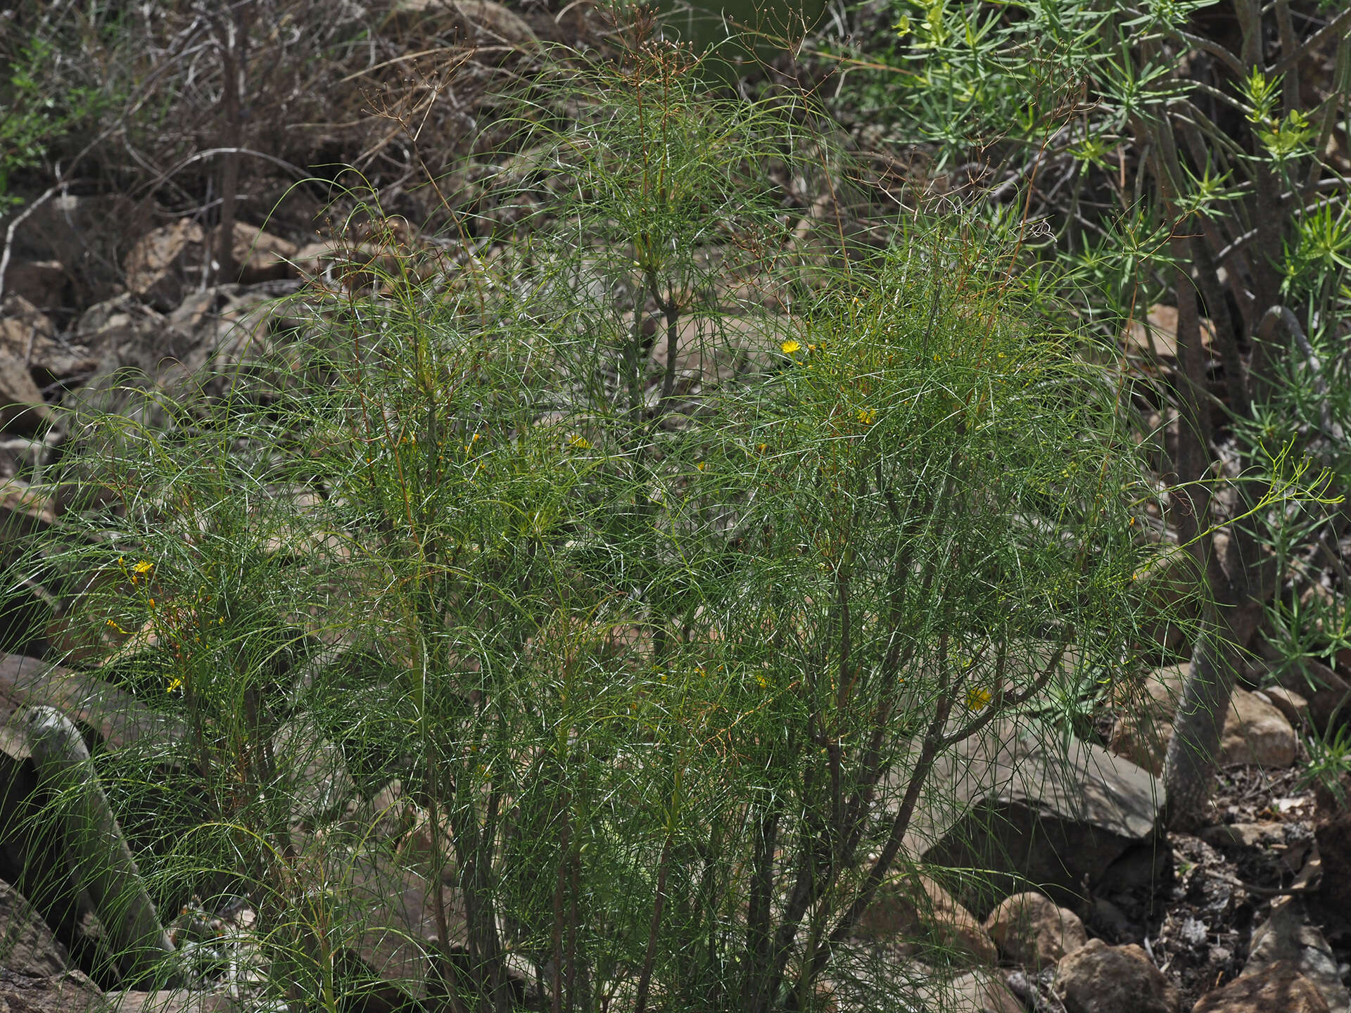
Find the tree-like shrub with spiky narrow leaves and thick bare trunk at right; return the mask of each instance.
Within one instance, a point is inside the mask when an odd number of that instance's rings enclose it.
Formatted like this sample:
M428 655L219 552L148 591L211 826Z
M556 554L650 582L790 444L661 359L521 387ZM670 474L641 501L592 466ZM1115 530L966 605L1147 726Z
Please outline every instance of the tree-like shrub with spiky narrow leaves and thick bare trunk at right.
M1346 643L1351 12L1290 0L886 9L894 70L854 72L846 100L885 105L958 200L1016 215L1039 290L1079 321L1115 339L1155 304L1175 309L1162 358L1123 365L1142 380L1140 428L1175 420L1156 465L1162 515L1204 592L1169 764L1175 819L1194 824L1251 652L1281 678ZM1273 462L1301 459L1325 469L1320 492L1273 509Z

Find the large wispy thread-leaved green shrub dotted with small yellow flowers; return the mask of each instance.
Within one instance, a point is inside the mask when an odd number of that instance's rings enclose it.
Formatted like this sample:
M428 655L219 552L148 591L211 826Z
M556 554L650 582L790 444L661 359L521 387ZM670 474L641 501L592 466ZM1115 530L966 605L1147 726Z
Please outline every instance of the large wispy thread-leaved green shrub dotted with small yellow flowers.
M827 970L900 1008L852 929L938 758L1132 663L1135 446L1016 236L802 243L771 176L839 154L688 72L527 107L494 261L405 254L224 394L68 419L32 566L95 574L85 651L181 729L109 793L162 905L251 898L274 998L336 1009L444 881L411 994L507 1009L511 955L555 1008L807 1010ZM426 864L338 766L450 828Z

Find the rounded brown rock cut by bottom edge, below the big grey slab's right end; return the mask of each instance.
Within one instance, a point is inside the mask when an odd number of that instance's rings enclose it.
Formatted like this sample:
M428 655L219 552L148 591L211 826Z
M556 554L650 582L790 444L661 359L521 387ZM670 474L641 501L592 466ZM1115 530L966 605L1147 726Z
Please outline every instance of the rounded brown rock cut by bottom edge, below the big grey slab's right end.
M1178 994L1133 943L1109 947L1089 940L1061 958L1055 995L1066 1013L1177 1013Z

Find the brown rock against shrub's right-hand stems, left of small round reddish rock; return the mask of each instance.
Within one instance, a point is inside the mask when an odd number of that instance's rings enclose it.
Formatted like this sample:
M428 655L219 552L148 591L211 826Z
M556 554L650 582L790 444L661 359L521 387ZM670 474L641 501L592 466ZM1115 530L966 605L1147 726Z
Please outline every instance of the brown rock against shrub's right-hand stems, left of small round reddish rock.
M855 935L898 940L907 954L924 950L993 964L993 940L981 923L934 879L898 877L882 883L863 912Z

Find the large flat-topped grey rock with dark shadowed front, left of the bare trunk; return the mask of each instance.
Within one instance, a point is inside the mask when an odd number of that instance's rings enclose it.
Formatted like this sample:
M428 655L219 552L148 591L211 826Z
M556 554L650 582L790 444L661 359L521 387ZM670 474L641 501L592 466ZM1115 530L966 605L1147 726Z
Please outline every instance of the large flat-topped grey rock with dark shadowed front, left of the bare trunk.
M901 777L889 790L904 787ZM1005 719L938 759L904 847L938 867L990 870L988 889L958 894L981 917L1029 882L1074 906L1085 881L1101 885L1128 852L1166 856L1155 847L1162 812L1163 786L1148 771Z

